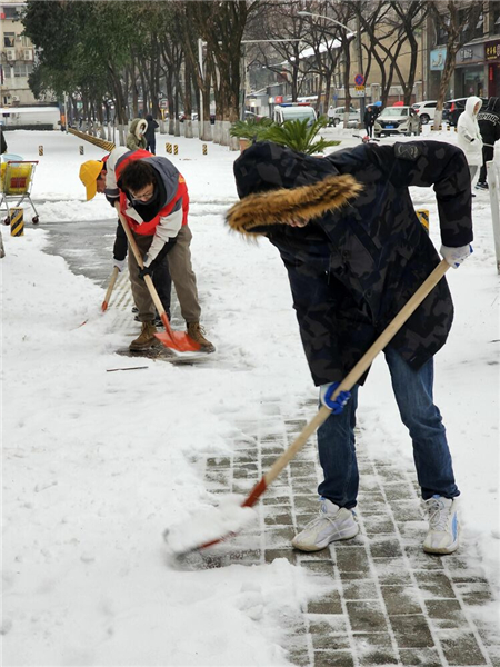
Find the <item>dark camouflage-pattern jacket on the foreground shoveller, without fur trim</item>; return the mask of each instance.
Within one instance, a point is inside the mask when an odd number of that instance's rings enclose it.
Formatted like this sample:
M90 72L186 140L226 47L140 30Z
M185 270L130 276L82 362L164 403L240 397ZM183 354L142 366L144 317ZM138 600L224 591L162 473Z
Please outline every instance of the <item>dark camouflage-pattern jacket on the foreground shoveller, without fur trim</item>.
M469 168L449 143L360 145L313 158L260 142L234 162L240 198L336 173L363 185L342 209L303 228L252 229L269 238L287 267L316 385L340 381L440 261L418 221L410 186L433 187L444 246L472 241ZM443 346L452 319L443 278L390 345L418 369Z

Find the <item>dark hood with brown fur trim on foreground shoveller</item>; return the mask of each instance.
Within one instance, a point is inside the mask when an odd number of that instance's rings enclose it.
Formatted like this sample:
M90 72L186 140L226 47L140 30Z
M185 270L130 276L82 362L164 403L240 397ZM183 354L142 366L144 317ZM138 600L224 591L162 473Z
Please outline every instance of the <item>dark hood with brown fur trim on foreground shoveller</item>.
M269 141L249 147L234 162L241 201L227 213L231 229L264 233L267 226L307 222L339 209L362 186L339 175L326 158L298 153Z

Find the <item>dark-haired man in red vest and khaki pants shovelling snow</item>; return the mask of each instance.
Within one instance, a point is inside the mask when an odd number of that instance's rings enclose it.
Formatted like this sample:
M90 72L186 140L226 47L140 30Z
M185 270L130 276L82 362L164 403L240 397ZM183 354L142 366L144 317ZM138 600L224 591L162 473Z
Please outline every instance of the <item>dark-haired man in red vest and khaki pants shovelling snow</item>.
M188 335L204 352L213 345L204 338L200 326L201 308L197 279L191 266L191 230L188 226L189 195L183 177L167 158L147 150L114 149L107 162L106 196L120 202L120 211L143 253L143 268L129 252L129 273L133 300L142 322L140 336L130 344L131 350L142 350L154 342L154 305L143 280L153 275L163 257L187 322Z

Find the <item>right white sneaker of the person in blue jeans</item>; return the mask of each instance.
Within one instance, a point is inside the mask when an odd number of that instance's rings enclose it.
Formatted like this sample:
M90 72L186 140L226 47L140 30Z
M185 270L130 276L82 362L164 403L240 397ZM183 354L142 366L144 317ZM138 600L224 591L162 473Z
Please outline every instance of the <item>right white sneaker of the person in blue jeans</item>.
M423 541L428 554L452 554L459 545L457 498L432 496L426 500L429 515L429 532Z

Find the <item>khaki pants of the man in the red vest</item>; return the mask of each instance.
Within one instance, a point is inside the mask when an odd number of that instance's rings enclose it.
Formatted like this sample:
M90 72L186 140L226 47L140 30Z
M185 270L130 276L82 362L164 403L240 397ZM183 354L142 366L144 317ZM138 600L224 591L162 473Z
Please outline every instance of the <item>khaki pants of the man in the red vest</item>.
M153 237L134 233L133 238L143 257L149 250ZM188 225L183 225L177 235L176 245L168 253L170 275L176 287L182 317L188 325L199 322L201 315L198 301L197 277L191 267L191 251L189 249L191 239L191 230ZM139 310L139 319L141 322L151 322L154 319L156 308L146 282L142 278L139 278L139 270L136 257L129 248L130 285L133 300Z

